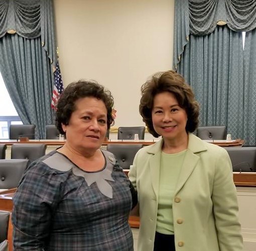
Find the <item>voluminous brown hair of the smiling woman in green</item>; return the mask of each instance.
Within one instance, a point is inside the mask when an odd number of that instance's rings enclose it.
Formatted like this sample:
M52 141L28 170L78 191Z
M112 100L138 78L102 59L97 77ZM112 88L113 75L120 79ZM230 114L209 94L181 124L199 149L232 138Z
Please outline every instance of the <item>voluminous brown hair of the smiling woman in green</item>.
M157 72L141 87L140 114L148 127L148 131L154 137L160 136L153 126L152 109L156 94L166 91L174 94L179 106L186 110L188 116L186 131L193 132L199 123L199 104L194 99L190 85L185 82L182 75L174 70Z

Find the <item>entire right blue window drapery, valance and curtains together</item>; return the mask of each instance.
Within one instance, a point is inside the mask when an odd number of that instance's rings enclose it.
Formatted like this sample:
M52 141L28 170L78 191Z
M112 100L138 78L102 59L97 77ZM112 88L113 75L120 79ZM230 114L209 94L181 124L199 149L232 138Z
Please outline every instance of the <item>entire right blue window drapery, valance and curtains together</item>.
M194 89L200 125L226 125L246 145L256 145L255 27L253 0L175 1L174 68Z

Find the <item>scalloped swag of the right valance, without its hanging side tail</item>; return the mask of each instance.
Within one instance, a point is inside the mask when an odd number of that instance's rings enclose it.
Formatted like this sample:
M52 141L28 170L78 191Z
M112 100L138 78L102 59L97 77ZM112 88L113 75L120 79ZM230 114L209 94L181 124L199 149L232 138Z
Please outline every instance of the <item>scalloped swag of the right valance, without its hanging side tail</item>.
M218 22L226 23L234 31L248 31L256 27L255 0L188 0L190 33L206 35Z

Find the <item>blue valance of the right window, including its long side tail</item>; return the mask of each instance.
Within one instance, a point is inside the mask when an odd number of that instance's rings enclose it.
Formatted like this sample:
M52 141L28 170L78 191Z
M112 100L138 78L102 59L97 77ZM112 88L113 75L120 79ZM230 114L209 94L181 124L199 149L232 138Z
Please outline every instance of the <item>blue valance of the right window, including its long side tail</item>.
M175 0L173 66L176 68L189 35L207 35L217 25L234 31L256 28L255 0Z

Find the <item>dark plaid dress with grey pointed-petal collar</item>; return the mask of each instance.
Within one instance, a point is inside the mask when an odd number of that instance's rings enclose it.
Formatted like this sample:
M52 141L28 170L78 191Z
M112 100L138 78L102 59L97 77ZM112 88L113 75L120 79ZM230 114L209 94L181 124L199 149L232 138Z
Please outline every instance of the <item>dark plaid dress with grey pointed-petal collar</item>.
M112 153L102 153L97 172L57 151L29 166L13 197L15 250L134 250L131 183Z

